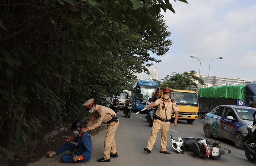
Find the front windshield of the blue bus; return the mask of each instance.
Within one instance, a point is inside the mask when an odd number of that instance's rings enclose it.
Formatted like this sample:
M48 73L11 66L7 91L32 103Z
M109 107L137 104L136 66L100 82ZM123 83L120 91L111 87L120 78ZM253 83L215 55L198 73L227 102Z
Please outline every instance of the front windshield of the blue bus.
M148 85L140 85L138 87L136 98L148 100L149 97L153 96L153 92L155 92L155 90L157 90L157 87L152 87L152 86L148 86Z

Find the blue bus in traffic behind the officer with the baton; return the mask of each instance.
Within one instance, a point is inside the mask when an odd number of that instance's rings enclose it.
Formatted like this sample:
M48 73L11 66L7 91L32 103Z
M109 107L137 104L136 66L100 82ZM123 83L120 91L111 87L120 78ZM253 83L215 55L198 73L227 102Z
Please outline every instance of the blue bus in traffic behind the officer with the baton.
M149 101L149 97L153 97L153 92L158 88L157 81L138 80L131 91L131 102L134 103L134 111L142 110Z

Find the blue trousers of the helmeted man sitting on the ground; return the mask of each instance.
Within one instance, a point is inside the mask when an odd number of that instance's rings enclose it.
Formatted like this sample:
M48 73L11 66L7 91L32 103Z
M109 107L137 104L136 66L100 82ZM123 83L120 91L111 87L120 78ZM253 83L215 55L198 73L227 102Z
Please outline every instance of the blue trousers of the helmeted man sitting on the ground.
M61 147L59 147L55 152L56 155L65 152L65 151L70 151L70 153L73 151L73 149L76 149L77 146L71 142L64 143ZM62 163L84 163L87 160L78 160L78 161L73 161L73 156L72 155L62 155L61 157L61 162Z

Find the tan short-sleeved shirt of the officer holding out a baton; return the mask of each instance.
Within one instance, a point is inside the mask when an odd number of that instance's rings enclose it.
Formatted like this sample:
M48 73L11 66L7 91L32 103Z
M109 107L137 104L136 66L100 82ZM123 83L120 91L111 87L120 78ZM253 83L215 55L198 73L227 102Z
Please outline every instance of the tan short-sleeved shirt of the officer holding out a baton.
M171 119L171 117L172 117L172 106L173 106L174 112L179 111L179 108L178 108L177 104L175 102L172 102L171 99L169 99L168 101L166 101L165 99L162 99L162 98L157 99L155 101L155 104L157 105L157 111L155 112L155 115L157 115L161 119L166 119L165 109L164 110L162 109L163 108L163 101L165 103L167 119Z

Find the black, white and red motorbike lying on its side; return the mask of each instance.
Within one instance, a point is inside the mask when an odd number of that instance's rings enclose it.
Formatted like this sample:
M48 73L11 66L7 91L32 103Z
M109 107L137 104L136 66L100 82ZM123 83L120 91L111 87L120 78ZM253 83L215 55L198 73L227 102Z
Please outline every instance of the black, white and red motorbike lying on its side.
M208 141L207 139L193 138L193 137L178 137L177 141L172 138L172 148L178 153L185 154L184 152L193 152L194 155L201 157L209 157L218 159L221 155L231 153L230 149L222 148L218 141Z

